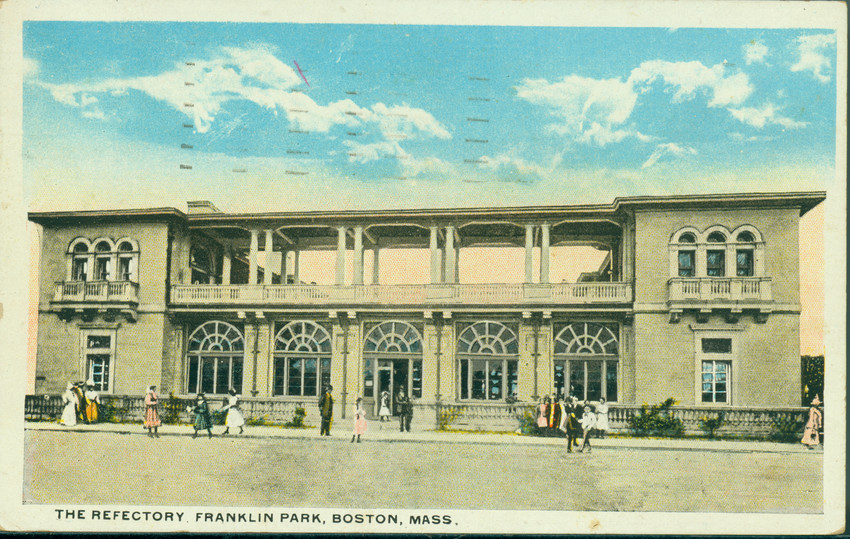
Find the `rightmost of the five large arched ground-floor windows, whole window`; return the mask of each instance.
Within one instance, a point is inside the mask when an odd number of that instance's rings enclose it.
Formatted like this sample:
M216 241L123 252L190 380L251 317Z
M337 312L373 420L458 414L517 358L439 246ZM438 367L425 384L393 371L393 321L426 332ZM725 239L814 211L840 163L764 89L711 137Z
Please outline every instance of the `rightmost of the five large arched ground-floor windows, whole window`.
M573 322L555 336L555 391L580 400L617 401L618 326ZM569 381L569 386L567 386Z

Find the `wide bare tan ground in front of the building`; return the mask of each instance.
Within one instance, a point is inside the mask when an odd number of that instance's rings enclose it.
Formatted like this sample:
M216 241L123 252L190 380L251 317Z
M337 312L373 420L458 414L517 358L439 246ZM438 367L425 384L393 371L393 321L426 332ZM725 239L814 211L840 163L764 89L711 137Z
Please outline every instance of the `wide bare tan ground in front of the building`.
M346 425L347 426L347 425ZM24 500L337 508L819 513L823 453L800 444L510 434L27 424ZM220 433L222 427L215 432Z

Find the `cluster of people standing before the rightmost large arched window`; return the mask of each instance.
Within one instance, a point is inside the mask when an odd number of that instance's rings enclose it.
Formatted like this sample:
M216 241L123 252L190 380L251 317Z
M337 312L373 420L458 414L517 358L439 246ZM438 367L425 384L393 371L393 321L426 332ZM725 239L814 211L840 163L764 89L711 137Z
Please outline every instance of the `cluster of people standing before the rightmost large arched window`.
M580 402L576 397L566 399L563 395L550 398L545 396L538 407L537 428L544 436L564 436L567 438L567 451L572 453L573 447L578 446L579 452L591 451L590 438L596 433L604 438L609 430L608 404L605 398L599 402Z

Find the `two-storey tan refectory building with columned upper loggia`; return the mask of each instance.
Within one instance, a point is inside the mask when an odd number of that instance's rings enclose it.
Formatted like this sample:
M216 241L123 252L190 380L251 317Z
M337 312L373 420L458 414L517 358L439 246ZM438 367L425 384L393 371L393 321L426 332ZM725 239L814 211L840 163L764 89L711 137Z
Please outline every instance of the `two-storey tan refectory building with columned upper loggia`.
M357 396L376 411L382 391L402 387L422 404L569 392L798 406L798 225L824 198L31 213L43 228L35 390L79 379L120 395L153 383L177 395L233 387L312 410L330 383L343 414ZM550 282L552 252L574 245L601 262ZM481 248L482 265L511 265L517 282L467 282L460 261ZM383 267L397 249L423 255L426 282L380 284L416 263ZM335 279L313 284L308 255L322 251Z

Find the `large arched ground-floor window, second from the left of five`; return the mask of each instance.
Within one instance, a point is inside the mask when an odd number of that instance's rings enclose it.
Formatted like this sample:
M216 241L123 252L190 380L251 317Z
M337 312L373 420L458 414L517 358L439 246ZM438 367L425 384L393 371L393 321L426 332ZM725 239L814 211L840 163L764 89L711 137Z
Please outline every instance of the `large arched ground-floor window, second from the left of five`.
M275 395L315 396L331 381L331 337L311 320L295 320L274 341Z

